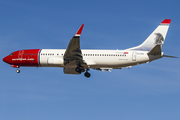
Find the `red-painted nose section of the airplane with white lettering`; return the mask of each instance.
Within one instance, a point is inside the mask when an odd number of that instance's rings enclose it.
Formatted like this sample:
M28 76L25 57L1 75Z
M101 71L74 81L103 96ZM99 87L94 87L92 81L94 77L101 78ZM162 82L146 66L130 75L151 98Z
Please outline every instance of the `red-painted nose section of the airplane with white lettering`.
M11 65L38 67L39 51L40 49L15 51L11 53L11 55L6 56L3 60Z

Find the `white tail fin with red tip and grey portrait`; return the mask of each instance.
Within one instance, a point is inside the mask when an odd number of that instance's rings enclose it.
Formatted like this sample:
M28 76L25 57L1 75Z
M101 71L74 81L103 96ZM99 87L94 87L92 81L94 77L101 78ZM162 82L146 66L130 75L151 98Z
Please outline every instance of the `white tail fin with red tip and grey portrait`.
M171 19L163 20L161 24L151 33L151 35L141 45L129 48L128 50L150 51L156 45L160 45L160 48L162 48L170 22Z

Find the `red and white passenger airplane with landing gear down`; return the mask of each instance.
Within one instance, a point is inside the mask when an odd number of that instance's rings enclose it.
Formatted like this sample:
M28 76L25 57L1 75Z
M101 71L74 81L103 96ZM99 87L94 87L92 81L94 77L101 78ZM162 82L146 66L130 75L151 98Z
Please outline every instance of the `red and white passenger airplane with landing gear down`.
M17 68L17 73L20 73L20 67L62 67L65 74L84 72L89 78L90 69L111 72L111 69L131 68L162 57L177 58L161 51L170 22L171 19L164 19L142 44L125 50L81 49L82 24L66 49L18 50L4 57L3 61Z

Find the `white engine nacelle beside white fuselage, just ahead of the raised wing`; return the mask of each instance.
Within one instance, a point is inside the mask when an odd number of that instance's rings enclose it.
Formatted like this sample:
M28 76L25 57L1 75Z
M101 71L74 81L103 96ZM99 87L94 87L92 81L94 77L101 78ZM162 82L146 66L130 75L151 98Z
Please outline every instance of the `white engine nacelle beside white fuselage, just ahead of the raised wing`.
M58 57L48 58L48 64L49 65L63 65L64 60L63 58L58 58Z

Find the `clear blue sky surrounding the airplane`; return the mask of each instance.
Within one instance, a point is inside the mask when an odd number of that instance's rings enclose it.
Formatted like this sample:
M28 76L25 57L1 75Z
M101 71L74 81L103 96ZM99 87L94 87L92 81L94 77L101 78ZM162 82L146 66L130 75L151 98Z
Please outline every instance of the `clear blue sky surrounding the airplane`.
M172 19L163 46L179 55L178 0L1 0L0 56L20 49L65 49L81 24L82 49L126 49ZM0 62L1 120L179 120L180 60L65 75L62 68L16 69Z

